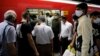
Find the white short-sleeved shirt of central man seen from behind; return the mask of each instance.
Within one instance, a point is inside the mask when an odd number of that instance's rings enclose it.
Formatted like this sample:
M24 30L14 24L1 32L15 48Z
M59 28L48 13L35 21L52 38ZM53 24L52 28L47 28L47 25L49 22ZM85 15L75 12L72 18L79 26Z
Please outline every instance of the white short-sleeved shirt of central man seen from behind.
M50 44L50 40L54 37L51 27L47 26L45 23L36 25L33 35L36 36L37 44Z

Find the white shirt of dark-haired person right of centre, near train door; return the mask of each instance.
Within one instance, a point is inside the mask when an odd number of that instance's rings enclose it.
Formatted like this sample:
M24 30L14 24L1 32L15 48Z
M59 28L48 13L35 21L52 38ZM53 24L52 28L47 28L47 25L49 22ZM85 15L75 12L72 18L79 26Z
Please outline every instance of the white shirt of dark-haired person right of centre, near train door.
M72 24L68 21L65 24L61 21L61 37L68 37L68 40L72 39Z

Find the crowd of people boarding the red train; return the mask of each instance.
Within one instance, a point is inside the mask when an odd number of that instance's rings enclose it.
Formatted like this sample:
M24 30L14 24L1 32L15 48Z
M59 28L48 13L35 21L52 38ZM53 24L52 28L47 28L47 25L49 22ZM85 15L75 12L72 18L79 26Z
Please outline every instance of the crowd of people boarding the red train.
M14 10L4 13L0 56L62 56L68 46L75 48L76 56L100 56L100 12L89 14L86 3L76 6L73 24L59 13L41 12L30 20L26 11L15 26L16 17Z

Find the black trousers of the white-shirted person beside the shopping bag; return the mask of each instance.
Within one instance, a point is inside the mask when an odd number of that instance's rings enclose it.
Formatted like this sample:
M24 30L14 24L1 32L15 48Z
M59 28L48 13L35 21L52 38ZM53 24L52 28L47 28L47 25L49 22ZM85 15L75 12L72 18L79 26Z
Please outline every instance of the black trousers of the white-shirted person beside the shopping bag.
M62 37L61 38L61 54L63 54L64 53L64 51L67 49L67 47L68 47L68 45L69 45L69 41L68 41L68 37Z

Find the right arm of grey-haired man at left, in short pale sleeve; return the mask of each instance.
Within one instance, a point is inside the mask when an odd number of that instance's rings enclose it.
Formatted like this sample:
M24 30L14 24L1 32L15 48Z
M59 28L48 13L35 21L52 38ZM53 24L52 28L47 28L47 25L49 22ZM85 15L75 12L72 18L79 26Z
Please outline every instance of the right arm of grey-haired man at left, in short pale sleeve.
M9 56L17 56L17 51L14 43L16 42L16 31L11 27L7 32L7 51Z

